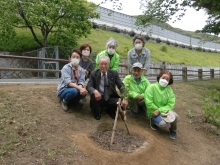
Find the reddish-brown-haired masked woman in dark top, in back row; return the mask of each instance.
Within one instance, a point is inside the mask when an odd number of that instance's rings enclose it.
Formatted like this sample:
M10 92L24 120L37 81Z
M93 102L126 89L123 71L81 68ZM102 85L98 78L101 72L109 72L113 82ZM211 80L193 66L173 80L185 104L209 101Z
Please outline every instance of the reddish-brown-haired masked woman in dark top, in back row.
M92 48L89 44L83 44L80 46L80 51L82 53L82 58L79 65L84 69L85 79L89 78L91 71L93 70L93 62L88 58L92 52Z

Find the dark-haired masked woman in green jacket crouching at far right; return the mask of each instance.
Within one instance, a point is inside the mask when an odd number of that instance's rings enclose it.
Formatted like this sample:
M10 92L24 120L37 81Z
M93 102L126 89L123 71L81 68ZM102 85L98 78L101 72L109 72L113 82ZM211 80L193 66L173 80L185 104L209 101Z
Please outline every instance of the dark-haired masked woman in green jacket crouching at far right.
M144 100L151 129L168 127L170 138L176 139L178 115L173 111L175 95L169 86L171 84L173 75L168 71L162 71L157 76L157 82L151 84L145 91Z

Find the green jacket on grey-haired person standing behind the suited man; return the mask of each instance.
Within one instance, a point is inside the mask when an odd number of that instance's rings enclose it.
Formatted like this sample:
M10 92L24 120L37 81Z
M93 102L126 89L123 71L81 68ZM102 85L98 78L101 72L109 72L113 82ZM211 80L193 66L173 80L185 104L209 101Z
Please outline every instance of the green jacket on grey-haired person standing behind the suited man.
M101 56L108 56L108 57L109 57L107 50L104 50L104 51L100 52L100 53L96 56L96 59L95 59L95 63L96 63L95 69L99 69L98 63L99 63L99 58L100 58ZM109 68L109 69L118 70L119 61L120 61L120 57L119 57L119 55L115 52L115 53L113 54L112 59L110 60L110 68Z

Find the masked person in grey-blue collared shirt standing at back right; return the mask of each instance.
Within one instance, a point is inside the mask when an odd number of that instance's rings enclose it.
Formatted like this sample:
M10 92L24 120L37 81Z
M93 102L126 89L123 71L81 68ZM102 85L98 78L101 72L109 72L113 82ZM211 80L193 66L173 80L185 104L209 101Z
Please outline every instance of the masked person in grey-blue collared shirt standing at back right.
M136 35L133 38L134 48L128 51L128 68L129 71L132 65L136 62L140 62L143 65L142 74L145 75L146 71L150 67L150 51L144 47L145 39L143 36Z

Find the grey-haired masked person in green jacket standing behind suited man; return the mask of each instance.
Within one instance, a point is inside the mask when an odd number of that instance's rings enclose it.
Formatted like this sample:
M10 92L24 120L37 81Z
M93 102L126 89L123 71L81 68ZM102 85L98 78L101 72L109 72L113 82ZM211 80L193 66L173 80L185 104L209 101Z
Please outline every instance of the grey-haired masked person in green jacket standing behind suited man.
M99 62L99 58L101 56L108 56L110 59L110 67L109 69L112 70L118 70L118 66L119 66L119 61L120 61L120 57L119 55L115 52L116 48L118 47L118 43L116 40L114 40L112 37L108 39L108 41L106 42L106 50L100 52L97 56L96 56L96 67L95 69L98 69L98 62Z

